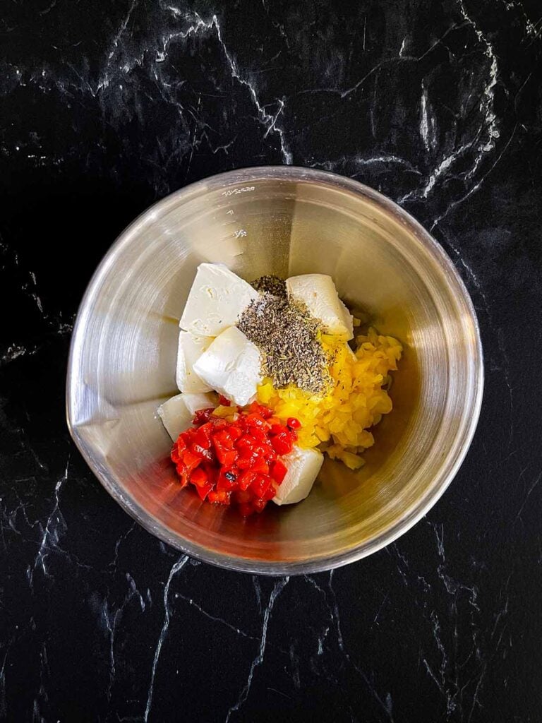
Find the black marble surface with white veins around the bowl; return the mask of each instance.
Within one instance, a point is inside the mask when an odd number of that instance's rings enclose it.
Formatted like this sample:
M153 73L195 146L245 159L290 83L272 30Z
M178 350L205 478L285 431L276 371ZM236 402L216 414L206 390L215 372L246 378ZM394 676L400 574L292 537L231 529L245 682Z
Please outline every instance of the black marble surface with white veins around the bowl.
M542 720L538 0L11 0L0 12L0 719ZM199 564L72 445L77 304L165 194L267 163L382 190L476 305L486 393L457 478L372 557Z

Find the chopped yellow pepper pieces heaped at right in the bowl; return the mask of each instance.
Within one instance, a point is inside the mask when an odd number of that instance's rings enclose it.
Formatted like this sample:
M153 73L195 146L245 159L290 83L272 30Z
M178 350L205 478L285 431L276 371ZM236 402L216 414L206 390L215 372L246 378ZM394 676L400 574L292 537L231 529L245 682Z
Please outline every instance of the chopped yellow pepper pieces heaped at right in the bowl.
M293 385L275 389L265 379L258 388L258 401L280 419L293 416L301 422L301 447L319 446L330 458L359 469L364 464L359 454L374 444L367 430L392 411L385 387L403 348L397 339L374 329L358 336L355 353L337 336L323 334L320 341L330 359L332 384L327 393L310 394Z

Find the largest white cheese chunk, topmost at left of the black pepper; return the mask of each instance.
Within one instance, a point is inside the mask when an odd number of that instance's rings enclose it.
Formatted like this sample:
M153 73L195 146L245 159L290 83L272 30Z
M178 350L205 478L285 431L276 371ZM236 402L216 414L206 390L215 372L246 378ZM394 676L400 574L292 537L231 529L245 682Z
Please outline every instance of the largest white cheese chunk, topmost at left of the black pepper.
M179 325L200 336L218 336L258 296L224 264L199 264Z

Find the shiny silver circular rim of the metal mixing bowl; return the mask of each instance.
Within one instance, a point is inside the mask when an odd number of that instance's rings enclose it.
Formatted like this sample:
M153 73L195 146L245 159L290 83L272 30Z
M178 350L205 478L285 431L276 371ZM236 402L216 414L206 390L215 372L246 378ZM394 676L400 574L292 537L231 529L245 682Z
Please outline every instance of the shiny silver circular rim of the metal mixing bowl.
M468 414L465 413L462 419L462 426L460 432L457 434L457 439L460 439L460 444L455 449L455 458L452 463L449 463L446 469L440 469L436 473L436 484L433 484L427 491L426 495L423 495L412 508L406 510L405 514L397 520L390 529L387 529L382 534L374 539L370 539L364 543L359 544L356 547L352 547L345 552L340 552L337 555L329 555L317 557L314 560L303 560L301 562L273 562L265 560L249 560L245 557L237 557L232 555L223 555L219 552L214 552L210 549L194 544L187 539L181 538L177 534L173 534L167 526L160 523L150 513L135 502L132 497L126 495L126 491L121 489L120 485L109 476L106 471L99 466L93 458L92 450L90 450L85 444L84 440L79 437L77 433L77 427L74 427L72 423L72 400L76 393L75 382L75 369L74 369L74 357L77 354L77 349L82 343L82 337L85 332L85 321L90 307L92 307L92 301L95 294L98 293L100 288L100 281L108 273L108 270L113 266L116 257L121 254L124 246L129 244L131 239L137 235L139 228L145 226L149 221L156 221L160 216L165 215L168 210L178 205L179 203L186 202L190 198L196 197L200 193L205 193L210 188L217 187L229 187L231 184L249 184L250 181L256 180L287 180L293 182L309 181L316 182L319 184L328 184L332 187L340 189L346 189L354 194L358 194L369 198L379 205L381 208L387 211L390 215L394 216L403 225L407 226L410 231L416 236L418 241L429 251L434 259L439 262L439 265L444 268L447 272L448 283L455 283L457 291L460 294L461 301L465 304L468 309L470 321L473 323L473 329L476 335L476 359L473 359L473 383L475 393L473 397L473 403L468 409ZM369 186L361 184L359 181L349 179L346 176L340 176L339 174L331 173L330 171L319 171L315 168L305 168L303 166L252 166L249 168L241 168L233 171L226 171L225 173L216 174L215 176L208 176L201 181L197 181L193 184L179 189L162 200L155 202L137 218L126 226L124 231L117 237L116 241L113 242L111 247L106 252L103 259L100 261L98 268L95 270L90 282L88 283L85 294L82 297L81 304L77 311L77 317L74 324L72 333L72 341L69 348L69 359L66 374L66 421L69 429L69 433L75 442L75 445L79 449L83 458L87 462L90 469L93 471L95 476L98 477L101 484L109 492L116 502L121 505L135 521L137 521L142 527L149 531L154 536L163 542L181 550L186 555L194 557L202 562L208 562L211 565L218 565L220 568L228 570L236 570L244 573L257 573L261 575L270 576L289 576L289 575L301 575L308 573L324 572L326 570L333 570L343 565L348 565L350 562L356 562L364 557L372 555L382 547L386 547L388 544L394 542L398 537L408 532L426 513L433 507L433 505L442 497L445 490L449 486L452 479L454 479L457 471L465 459L465 455L468 452L470 443L473 440L474 433L476 432L476 426L481 412L482 398L483 398L483 385L484 385L484 369L483 369L483 349L481 344L480 328L478 325L478 318L476 317L476 311L473 306L473 302L470 299L468 290L460 277L455 265L452 260L444 252L442 246L434 239L429 231L426 231L413 216L407 211L397 205L394 201L390 200L384 194L375 191Z

